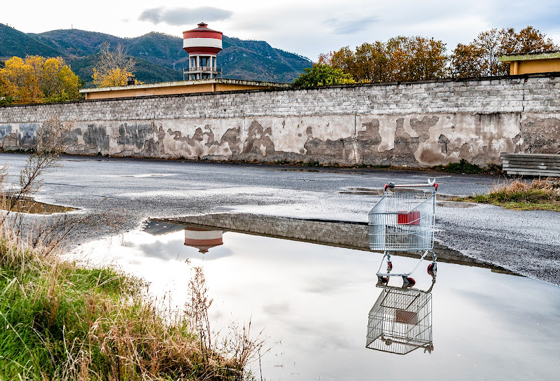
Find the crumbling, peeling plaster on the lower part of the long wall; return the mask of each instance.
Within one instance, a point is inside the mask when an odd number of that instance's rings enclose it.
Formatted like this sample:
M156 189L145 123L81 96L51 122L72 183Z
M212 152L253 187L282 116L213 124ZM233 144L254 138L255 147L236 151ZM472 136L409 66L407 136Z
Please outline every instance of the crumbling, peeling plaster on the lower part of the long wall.
M531 144L556 149L554 139L544 137L560 125L560 116L542 118L533 113L519 123L520 118L519 113L432 113L76 122L66 136L66 151L158 158L437 165L461 158L478 164L498 162L500 153L517 152L524 141L529 149ZM521 139L521 125L526 134L528 130L538 134ZM0 125L4 149L22 146L22 141L29 143L30 126ZM34 126L38 129L39 124Z

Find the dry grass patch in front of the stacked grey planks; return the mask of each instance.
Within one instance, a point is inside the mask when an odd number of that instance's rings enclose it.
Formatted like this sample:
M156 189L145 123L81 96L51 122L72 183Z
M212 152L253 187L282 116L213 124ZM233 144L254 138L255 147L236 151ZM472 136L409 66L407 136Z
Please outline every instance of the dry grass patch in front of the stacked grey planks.
M499 205L514 210L551 210L560 212L560 181L534 179L531 183L514 179L498 183L486 195L462 198L463 201Z

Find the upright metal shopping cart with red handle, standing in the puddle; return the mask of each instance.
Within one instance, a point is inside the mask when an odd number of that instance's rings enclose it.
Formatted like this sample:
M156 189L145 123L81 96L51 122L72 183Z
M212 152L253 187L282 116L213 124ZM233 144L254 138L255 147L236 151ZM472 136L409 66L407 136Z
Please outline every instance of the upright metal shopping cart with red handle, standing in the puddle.
M422 191L419 187L432 188ZM413 286L412 272L420 265L428 254L432 263L428 265L428 273L437 269L437 256L433 252L433 233L435 225L435 194L437 183L429 181L424 184L385 185L383 198L369 213L370 249L383 251L383 258L377 270L379 284L386 284L388 277L402 277L405 285ZM393 263L391 252L418 252L420 259L409 272L391 273ZM387 271L381 272L384 261Z

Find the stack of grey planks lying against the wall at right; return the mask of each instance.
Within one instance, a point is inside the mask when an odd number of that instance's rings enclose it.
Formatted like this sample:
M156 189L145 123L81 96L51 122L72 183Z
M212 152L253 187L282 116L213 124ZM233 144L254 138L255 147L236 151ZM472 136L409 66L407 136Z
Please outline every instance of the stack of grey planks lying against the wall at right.
M523 176L560 177L560 155L552 153L502 153L503 170Z

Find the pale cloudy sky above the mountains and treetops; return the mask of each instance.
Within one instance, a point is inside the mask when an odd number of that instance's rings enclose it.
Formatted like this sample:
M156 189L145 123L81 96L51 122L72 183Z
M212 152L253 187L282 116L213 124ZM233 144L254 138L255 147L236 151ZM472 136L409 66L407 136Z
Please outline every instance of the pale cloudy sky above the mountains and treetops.
M181 36L201 21L316 61L319 53L398 35L468 43L491 28L531 25L560 44L559 0L7 1L0 22L25 33L83 29L120 37ZM207 4L207 5L205 5ZM218 56L219 57L219 56Z

